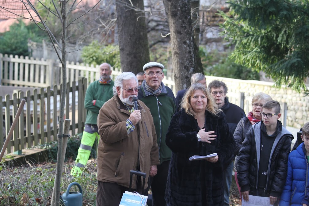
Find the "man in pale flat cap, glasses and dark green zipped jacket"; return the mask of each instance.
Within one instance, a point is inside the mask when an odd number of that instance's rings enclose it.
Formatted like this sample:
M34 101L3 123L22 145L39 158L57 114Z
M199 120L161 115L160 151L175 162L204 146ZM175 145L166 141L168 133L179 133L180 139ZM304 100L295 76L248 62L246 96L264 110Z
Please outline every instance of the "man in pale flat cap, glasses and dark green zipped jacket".
M166 205L164 196L167 182L171 150L165 144L165 136L172 116L176 111L176 99L171 88L164 86L162 79L164 66L158 62L149 62L143 66L144 78L139 86L138 99L146 104L154 119L160 165L157 174L151 178L153 206Z

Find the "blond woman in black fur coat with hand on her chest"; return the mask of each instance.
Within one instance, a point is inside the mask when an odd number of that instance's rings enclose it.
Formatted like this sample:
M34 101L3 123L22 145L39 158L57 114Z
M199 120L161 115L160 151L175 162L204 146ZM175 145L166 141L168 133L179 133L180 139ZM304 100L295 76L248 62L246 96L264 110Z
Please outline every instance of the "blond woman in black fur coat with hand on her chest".
M200 83L192 84L171 119L166 144L172 151L165 200L168 206L222 205L223 164L233 155L235 140L222 110ZM190 161L193 155L218 155Z

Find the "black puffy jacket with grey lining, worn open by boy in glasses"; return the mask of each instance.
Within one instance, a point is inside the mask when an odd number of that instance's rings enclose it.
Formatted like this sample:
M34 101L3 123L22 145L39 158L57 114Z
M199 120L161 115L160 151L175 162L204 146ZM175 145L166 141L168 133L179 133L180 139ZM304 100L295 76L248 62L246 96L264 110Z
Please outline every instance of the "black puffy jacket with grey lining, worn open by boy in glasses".
M279 197L286 182L287 161L291 150L292 134L279 122L279 133L273 143L267 171L266 195ZM252 126L239 151L237 179L240 191L254 194L258 185L258 166L260 162L260 129L263 122Z

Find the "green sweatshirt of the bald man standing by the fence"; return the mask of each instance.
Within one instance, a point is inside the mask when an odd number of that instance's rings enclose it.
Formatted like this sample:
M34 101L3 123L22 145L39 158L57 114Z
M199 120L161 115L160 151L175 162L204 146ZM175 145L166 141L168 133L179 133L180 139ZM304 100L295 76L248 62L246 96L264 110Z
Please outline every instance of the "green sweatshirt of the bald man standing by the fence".
M113 80L108 84L101 84L99 80L89 84L84 102L85 109L87 109L85 124L97 124L99 110L113 97L113 86ZM96 99L95 104L92 103L94 99Z

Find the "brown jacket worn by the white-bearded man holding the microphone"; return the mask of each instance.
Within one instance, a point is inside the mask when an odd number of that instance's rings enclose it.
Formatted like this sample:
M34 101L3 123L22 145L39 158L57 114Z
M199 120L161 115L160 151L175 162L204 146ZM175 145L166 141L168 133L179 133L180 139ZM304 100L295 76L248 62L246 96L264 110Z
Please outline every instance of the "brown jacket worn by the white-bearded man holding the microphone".
M112 97L100 109L97 124L99 145L97 180L129 187L130 170L140 170L149 177L150 165L158 165L159 150L153 118L149 108L138 100L142 119L133 132L127 133L126 120L130 116L119 97ZM138 166L139 164L139 166ZM133 175L132 188L136 185Z

